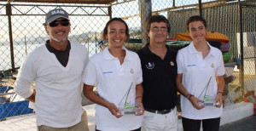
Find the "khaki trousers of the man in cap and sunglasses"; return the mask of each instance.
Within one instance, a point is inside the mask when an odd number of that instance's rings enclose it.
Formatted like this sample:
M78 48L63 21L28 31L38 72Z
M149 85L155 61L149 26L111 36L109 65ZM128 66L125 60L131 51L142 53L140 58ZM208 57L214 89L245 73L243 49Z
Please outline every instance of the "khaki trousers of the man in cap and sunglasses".
M89 131L86 111L84 111L81 122L67 128L52 128L49 126L38 126L38 131Z

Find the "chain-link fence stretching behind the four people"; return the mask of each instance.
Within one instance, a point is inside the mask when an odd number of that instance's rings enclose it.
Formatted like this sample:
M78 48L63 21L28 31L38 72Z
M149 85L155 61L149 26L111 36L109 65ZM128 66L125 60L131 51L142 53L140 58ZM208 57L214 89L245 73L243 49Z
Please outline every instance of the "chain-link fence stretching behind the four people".
M191 15L201 14L207 20L208 31L229 38L228 43L225 41L225 47L222 47L224 43L221 42L211 44L223 49L226 105L241 102L247 96L244 94L256 90L256 2L201 2L199 4L198 0L119 0L109 4L0 3L0 119L3 121L11 117L4 114L9 111L15 111L14 116L32 112L26 108L26 100L15 95L13 91L15 75L27 54L49 39L43 23L45 14L55 8L67 11L72 29L69 40L86 46L90 56L99 53L106 46L98 46L98 43L102 41L101 32L110 18L120 17L126 21L130 28L131 42L125 43L125 46L137 51L143 47L143 41L147 39L143 21L151 14L164 15L171 24L167 44L178 50L187 46L190 41L177 37L177 34L186 32L185 23ZM15 102L23 103L9 108L8 104ZM25 107L21 109L21 105Z

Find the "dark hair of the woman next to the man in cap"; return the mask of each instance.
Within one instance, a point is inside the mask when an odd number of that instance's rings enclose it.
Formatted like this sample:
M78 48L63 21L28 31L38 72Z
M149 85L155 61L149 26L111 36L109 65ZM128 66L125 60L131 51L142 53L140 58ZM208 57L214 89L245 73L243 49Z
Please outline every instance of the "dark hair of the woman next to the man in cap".
M108 38L106 37L106 34L108 34L108 26L109 26L109 24L112 22L112 21L120 21L120 22L122 22L122 23L124 23L125 24L125 35L126 35L126 42L129 42L130 41L130 34L129 34L129 28L128 28L128 26L127 26L127 24L125 23L125 20L122 20L121 18L117 18L117 17L115 17L115 18L113 18L113 19L111 19L111 20L108 20L108 22L107 22L107 24L106 24L106 26L104 27L104 30L103 30L103 32L102 32L102 40L104 41L104 40L107 40Z

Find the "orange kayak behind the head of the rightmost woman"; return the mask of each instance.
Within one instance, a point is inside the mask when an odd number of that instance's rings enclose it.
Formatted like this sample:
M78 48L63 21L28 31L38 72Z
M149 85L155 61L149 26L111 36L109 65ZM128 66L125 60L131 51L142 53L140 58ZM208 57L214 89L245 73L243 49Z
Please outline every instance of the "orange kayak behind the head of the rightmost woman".
M189 32L182 32L177 33L174 35L174 37L177 38L177 40L186 40L186 41L192 41L192 39L189 37ZM230 39L229 37L225 36L222 33L214 32L214 31L207 31L207 41L214 41L219 43L229 43Z

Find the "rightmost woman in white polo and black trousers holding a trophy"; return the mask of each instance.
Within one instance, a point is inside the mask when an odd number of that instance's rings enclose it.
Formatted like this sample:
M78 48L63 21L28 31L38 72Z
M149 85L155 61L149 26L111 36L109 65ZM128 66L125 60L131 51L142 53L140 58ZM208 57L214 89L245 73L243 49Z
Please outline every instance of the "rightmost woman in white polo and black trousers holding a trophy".
M181 96L183 130L218 130L222 114L224 62L218 48L206 41L207 22L191 16L192 42L177 53L177 90Z

